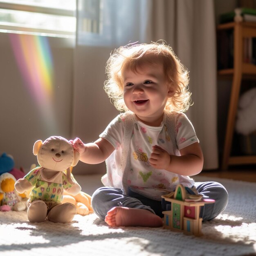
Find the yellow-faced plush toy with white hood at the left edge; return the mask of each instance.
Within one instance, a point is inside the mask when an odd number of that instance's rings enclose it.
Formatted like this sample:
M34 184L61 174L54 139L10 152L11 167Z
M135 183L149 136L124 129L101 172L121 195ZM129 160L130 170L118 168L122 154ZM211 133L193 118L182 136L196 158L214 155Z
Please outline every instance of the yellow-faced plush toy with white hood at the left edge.
M0 211L24 211L26 203L14 189L16 178L11 173L0 175Z

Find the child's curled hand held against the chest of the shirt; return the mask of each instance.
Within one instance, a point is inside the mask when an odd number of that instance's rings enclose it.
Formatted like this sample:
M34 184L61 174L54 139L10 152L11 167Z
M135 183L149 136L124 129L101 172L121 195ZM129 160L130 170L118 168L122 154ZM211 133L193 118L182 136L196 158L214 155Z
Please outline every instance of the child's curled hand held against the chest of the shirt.
M171 164L171 156L166 150L155 145L153 146L153 151L150 155L149 162L151 166L156 169L167 170Z

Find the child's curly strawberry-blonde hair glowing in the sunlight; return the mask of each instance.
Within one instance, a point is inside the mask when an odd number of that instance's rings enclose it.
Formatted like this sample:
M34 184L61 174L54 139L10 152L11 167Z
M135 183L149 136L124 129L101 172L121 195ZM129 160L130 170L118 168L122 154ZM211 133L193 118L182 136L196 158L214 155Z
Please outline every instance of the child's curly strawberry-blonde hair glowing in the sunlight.
M146 57L148 54L150 58ZM163 63L168 84L175 92L168 99L165 109L177 112L188 110L191 106L191 92L188 88L189 71L180 63L173 49L164 43L121 46L110 54L106 63L107 80L104 83L104 90L117 110L128 110L123 98L124 71L137 71L145 63L149 65Z

